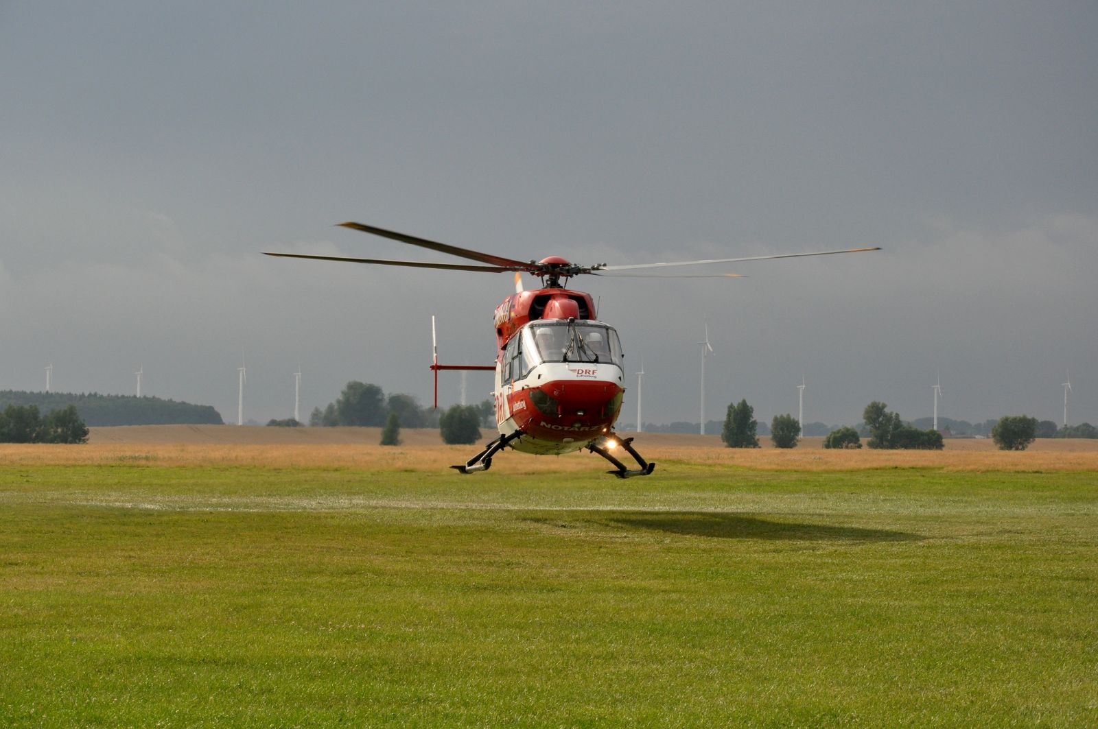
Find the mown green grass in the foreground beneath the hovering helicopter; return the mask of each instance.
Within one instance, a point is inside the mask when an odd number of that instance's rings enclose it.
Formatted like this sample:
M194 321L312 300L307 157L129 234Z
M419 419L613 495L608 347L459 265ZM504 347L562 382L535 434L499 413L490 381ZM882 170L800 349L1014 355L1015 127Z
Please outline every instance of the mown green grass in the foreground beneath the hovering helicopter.
M0 725L1098 724L1094 472L541 463L0 467Z

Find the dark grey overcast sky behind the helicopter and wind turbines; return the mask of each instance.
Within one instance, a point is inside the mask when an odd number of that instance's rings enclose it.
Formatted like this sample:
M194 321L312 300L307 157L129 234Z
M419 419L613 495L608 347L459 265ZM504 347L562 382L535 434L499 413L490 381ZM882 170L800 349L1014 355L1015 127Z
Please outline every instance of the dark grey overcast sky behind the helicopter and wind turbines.
M2 2L0 389L144 394L235 422L348 380L429 403L491 363L522 260L739 263L573 282L645 419L1098 423L1098 5L1079 2ZM448 260L449 262L449 260ZM533 288L536 281L527 279ZM636 378L623 420L636 416ZM444 373L440 400L460 396ZM469 399L490 377L469 374Z

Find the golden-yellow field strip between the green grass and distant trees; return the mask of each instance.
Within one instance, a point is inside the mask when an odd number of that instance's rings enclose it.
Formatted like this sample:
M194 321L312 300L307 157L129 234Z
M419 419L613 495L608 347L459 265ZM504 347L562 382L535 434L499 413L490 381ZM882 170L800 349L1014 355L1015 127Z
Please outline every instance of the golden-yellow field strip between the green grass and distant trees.
M405 429L403 445L381 447L379 428L274 428L238 426L126 426L92 428L85 446L0 445L3 463L333 466L362 469L446 469L477 446L446 446L434 429ZM491 437L484 431L484 439ZM628 434L623 434L628 435ZM1041 439L1022 452L995 449L987 439L946 440L943 451L825 450L805 438L792 450L725 448L718 436L641 434L637 448L660 470L690 463L752 469L841 471L874 468L942 468L951 471L1098 470L1098 440ZM531 457L504 452L494 472L559 473L606 470L592 453Z

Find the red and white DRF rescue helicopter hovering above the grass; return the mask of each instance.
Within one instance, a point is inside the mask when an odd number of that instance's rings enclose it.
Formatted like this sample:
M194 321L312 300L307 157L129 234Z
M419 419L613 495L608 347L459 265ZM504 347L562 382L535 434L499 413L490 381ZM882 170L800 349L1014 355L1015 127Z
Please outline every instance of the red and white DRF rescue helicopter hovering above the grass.
M578 450L598 453L614 469L607 471L620 479L649 475L656 463L645 460L632 446L632 438L620 438L614 424L625 395L625 370L621 343L617 332L602 322L591 294L567 288L576 276L641 276L630 273L643 269L660 271L682 266L712 266L774 258L799 258L834 254L879 250L879 247L848 248L800 254L777 254L739 258L580 266L559 256L541 260L520 261L468 248L436 243L426 238L388 231L362 223L339 223L341 227L399 240L437 253L477 261L471 263L436 263L427 261L313 256L305 254L265 253L282 258L402 266L448 271L511 273L515 276L515 293L495 307L494 326L496 356L494 365L439 365L437 340L430 369L435 372L435 407L438 407L438 372L440 370L494 370L493 402L498 436L464 463L452 466L461 473L486 471L492 458L504 448L535 455L561 455ZM626 272L630 271L630 272ZM541 280L541 288L524 290L522 274ZM662 274L659 274L661 276ZM666 278L738 278L736 273L683 274ZM434 319L432 336L434 339ZM636 461L626 466L613 451L624 450Z

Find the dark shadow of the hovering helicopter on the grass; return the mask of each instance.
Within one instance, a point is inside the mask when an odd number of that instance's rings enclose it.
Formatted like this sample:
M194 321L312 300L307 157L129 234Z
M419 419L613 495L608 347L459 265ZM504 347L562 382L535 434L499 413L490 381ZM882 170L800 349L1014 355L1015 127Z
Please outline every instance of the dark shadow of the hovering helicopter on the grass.
M556 518L535 517L530 520L545 524L561 521ZM572 512L569 516L589 523L629 529L648 529L666 534L710 537L715 539L766 539L820 542L887 542L915 541L922 536L890 529L865 529L862 527L832 526L827 524L803 524L775 521L732 512ZM571 525L571 526L574 526Z

